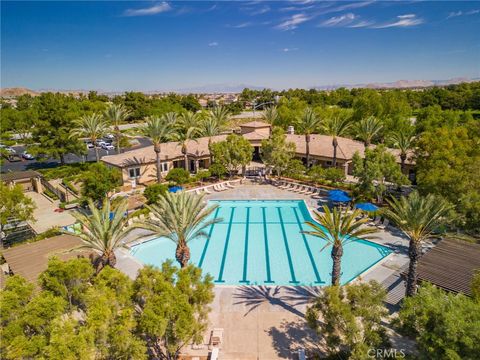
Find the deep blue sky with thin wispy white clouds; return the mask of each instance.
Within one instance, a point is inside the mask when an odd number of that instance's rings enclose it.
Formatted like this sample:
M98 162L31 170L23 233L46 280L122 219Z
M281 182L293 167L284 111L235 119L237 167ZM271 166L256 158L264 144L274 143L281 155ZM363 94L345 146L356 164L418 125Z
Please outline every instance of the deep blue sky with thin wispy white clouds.
M480 2L3 1L1 87L311 88L480 77Z

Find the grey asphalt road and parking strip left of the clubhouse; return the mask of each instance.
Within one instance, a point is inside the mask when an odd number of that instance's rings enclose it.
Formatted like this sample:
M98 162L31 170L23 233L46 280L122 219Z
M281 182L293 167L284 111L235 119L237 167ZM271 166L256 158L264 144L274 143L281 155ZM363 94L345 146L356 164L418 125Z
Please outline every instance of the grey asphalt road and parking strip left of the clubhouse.
M122 152L146 147L152 144L150 140L146 138L137 138L137 140L139 142L139 145L128 148L128 149L122 149ZM22 146L22 145L12 146L12 147L15 149L18 155L21 155L25 151L25 146ZM105 155L116 154L116 150L107 151L99 148L98 153L100 155L100 158L102 158ZM84 158L82 158L81 156L77 156L75 154L67 154L65 156L65 162L67 164L73 164L73 163L78 163L82 161L95 161L95 160L96 160L96 157L95 157L94 149L88 149L88 155ZM37 169L51 168L59 165L60 165L60 160L57 160L57 159L44 159L41 161L37 161L36 159L25 160L22 158L22 161L10 162L4 158L3 164L1 165L1 172L3 173L3 172L10 172L10 171L37 170Z

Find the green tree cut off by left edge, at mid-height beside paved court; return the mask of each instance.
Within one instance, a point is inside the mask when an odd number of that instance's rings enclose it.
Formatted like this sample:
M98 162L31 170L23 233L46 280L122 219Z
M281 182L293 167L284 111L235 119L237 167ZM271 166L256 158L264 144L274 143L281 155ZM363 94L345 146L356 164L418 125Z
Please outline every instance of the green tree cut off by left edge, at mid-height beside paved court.
M4 227L15 221L34 221L35 203L25 195L21 185L8 186L0 180L0 245L3 246Z

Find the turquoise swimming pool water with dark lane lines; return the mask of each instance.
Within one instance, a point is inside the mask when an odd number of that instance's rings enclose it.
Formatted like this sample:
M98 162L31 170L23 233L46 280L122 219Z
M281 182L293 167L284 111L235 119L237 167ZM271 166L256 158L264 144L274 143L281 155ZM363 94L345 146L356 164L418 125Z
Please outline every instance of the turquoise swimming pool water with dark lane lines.
M331 248L301 233L311 220L301 200L210 201L212 216L222 222L207 228L210 237L189 243L190 261L228 285L329 285ZM175 244L157 238L135 245L135 258L160 266L175 259ZM348 283L390 253L386 247L359 240L344 247L341 282Z

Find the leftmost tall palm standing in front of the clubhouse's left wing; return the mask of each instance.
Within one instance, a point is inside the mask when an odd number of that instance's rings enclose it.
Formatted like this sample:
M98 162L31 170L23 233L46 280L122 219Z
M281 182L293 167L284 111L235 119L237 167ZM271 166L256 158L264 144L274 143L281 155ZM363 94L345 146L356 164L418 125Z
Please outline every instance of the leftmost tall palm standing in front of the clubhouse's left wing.
M162 168L160 164L161 145L168 141L174 133L172 124L165 117L149 116L140 128L140 133L148 137L153 143L157 163L157 183L162 181Z

